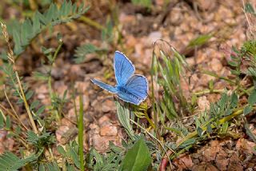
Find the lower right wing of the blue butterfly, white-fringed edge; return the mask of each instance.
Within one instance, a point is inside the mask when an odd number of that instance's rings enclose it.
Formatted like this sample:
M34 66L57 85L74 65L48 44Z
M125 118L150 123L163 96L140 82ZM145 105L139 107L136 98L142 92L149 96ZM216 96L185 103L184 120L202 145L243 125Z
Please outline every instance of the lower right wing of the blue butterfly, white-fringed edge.
M139 105L147 97L148 83L144 76L134 75L128 79L126 85L119 86L118 97Z

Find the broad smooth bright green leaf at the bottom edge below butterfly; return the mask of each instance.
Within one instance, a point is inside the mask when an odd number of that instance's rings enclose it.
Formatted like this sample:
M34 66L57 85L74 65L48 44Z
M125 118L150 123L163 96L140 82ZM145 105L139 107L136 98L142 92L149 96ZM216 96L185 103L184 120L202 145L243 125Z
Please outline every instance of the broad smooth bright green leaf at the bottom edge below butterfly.
M145 141L140 138L134 146L129 149L122 162L122 170L141 171L147 170L151 165L150 151Z

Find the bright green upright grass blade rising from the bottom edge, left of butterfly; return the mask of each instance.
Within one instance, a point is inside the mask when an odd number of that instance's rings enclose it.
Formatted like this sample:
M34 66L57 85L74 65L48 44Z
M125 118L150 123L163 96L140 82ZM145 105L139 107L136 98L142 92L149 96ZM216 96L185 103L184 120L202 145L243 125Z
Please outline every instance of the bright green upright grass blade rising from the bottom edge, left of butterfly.
M80 169L85 170L83 161L83 99L82 95L79 96L79 122L78 122L78 144L79 144L79 157Z

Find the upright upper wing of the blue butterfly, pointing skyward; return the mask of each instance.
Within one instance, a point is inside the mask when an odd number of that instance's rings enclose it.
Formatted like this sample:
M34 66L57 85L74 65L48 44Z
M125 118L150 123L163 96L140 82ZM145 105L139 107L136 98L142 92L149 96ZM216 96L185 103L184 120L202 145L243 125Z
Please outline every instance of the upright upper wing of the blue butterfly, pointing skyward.
M125 85L134 74L135 68L126 55L119 51L114 53L114 74L118 85Z

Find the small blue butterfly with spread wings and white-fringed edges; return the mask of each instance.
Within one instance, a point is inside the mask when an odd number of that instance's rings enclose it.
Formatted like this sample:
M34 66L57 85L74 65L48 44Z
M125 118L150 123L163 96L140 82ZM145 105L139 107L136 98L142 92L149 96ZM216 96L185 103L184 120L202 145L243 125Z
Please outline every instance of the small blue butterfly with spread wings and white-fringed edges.
M148 83L143 75L134 74L135 67L133 63L126 58L125 54L119 51L114 53L114 74L117 85L107 85L96 79L91 79L95 85L110 93L117 94L120 99L139 105L146 100Z

